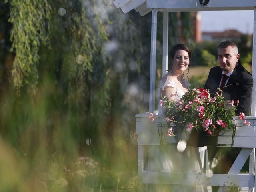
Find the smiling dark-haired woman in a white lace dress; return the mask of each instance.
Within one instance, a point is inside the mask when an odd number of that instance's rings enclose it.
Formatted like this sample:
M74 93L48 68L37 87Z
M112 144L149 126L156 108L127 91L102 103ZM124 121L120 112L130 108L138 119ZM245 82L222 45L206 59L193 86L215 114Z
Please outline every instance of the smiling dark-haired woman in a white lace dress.
M164 109L159 105L163 96L169 100L179 100L188 92L190 84L183 79L184 72L189 69L191 51L184 44L175 45L170 51L170 71L160 80L158 88L158 116L165 116ZM178 151L176 146L163 145L149 148L152 163L149 164L152 171L200 173L202 165L198 148L187 146L185 150ZM186 179L186 178L179 178ZM191 185L166 185L154 186L157 191L173 192L203 192L202 186ZM161 187L161 189L160 189Z

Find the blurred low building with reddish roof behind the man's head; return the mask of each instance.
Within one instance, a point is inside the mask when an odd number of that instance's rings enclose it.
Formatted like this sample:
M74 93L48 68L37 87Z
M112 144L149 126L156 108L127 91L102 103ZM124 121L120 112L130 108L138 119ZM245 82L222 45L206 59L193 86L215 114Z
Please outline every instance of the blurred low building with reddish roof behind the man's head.
M225 30L223 32L202 32L203 41L225 41L227 39L238 41L243 33L238 30Z

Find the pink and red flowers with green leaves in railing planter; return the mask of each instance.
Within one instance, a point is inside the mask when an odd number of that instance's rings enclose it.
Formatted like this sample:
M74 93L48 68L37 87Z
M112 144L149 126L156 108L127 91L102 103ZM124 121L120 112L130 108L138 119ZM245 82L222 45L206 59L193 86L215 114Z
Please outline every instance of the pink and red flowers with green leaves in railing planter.
M239 101L232 101L227 105L223 100L222 90L211 96L208 90L197 87L189 90L178 101L163 97L160 105L167 116L167 123L176 125L175 130L169 126L166 135L174 136L184 129L191 134L218 135L226 128L235 128L232 117L235 116L238 103ZM243 117L241 114L240 118Z

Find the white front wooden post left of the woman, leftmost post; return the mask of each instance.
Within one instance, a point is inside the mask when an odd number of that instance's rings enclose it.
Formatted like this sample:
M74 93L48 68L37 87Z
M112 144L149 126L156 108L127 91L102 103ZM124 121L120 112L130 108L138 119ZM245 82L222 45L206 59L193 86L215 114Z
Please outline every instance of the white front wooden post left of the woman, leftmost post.
M150 87L149 87L149 112L155 111L155 89L156 89L156 28L157 9L152 10L151 23L151 51L150 51Z

